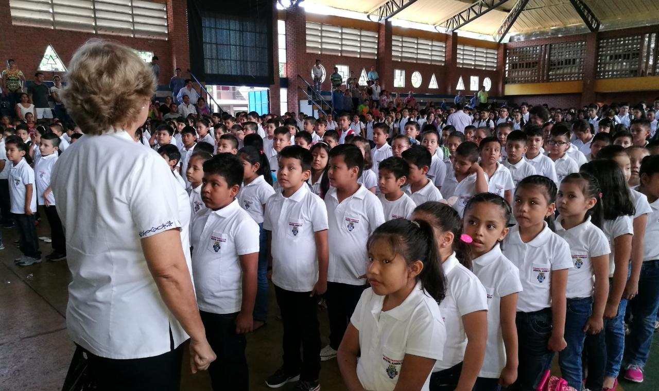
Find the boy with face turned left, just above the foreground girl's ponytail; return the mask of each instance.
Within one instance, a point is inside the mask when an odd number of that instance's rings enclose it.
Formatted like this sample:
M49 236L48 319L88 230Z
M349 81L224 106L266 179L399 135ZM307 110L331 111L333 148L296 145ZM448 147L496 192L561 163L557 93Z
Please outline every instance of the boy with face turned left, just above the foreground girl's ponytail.
M442 199L442 193L427 176L432 164L432 157L428 149L420 145L413 145L403 151L401 157L409 167L407 176L409 186L406 186L405 193L412 198L415 204L420 205L426 201Z

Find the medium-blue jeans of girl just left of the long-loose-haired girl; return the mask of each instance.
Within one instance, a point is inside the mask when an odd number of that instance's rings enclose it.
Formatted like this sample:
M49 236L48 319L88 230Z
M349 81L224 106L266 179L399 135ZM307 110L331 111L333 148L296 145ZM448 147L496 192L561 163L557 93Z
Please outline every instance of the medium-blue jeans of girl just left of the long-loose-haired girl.
M588 317L592 314L592 298L567 299L567 311L565 313L565 342L567 348L558 353L558 365L561 367L561 375L567 380L569 386L581 389L582 366L581 353L586 339L583 326L586 325Z

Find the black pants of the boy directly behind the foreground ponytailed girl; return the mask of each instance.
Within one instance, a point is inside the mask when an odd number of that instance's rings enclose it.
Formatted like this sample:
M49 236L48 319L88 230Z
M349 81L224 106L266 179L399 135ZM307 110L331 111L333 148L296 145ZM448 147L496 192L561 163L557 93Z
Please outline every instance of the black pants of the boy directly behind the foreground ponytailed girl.
M328 304L329 317L329 346L338 350L343 334L348 328L350 318L355 312L357 302L362 297L366 285L341 284L340 282L328 282L328 291L325 300Z

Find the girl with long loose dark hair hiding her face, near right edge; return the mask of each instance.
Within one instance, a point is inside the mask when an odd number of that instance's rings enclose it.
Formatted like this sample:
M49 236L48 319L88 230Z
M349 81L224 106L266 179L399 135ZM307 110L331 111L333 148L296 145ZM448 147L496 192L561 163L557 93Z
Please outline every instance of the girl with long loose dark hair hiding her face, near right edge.
M625 350L624 317L627 299L623 297L629 278L632 237L634 235L633 199L623 171L615 161L594 160L581 166L596 178L602 192L604 224L602 231L611 248L609 257L610 292L604 307L604 330L588 335L588 378L586 387L597 390L614 389ZM602 359L605 358L605 359ZM604 378L602 378L602 375ZM602 385L603 384L603 385Z

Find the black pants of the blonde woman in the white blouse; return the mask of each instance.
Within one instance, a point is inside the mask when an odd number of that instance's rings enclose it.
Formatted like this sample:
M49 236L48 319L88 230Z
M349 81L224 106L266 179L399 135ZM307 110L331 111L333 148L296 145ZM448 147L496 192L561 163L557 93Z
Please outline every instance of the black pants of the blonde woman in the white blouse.
M141 359L108 359L84 352L87 373L98 391L179 390L183 344L171 352Z

